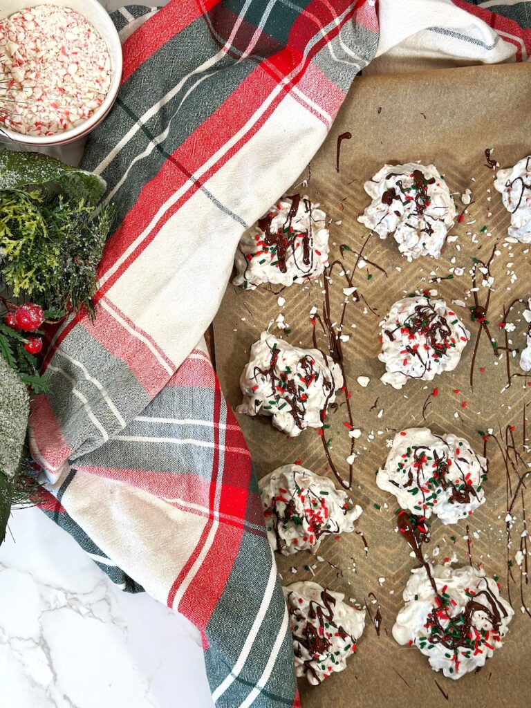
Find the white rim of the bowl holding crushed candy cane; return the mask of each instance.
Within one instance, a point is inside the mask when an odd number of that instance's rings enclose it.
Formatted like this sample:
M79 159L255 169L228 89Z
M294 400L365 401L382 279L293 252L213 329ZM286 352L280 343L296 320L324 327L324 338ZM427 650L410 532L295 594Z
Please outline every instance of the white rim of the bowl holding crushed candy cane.
M80 8L72 8L74 12L79 13L84 16L84 18L93 24L91 20L91 14L98 13L102 18L103 23L108 25L108 30L110 30L110 41L107 41L109 54L113 57L115 67L113 69L113 77L110 81L109 90L103 99L103 103L96 108L94 113L90 118L87 118L80 125L61 133L55 133L55 135L23 135L23 133L16 132L15 130L10 130L5 125L0 125L0 139L9 139L10 142L15 142L21 145L27 145L29 147L52 147L57 145L64 145L74 140L86 137L86 135L93 130L96 125L98 125L103 118L105 118L110 112L113 103L118 96L118 90L120 89L120 82L122 80L122 69L123 69L123 57L122 57L122 43L120 42L120 35L118 35L118 30L115 27L110 14L103 7L103 5L98 2L98 0L78 0L81 5L86 6L86 11ZM25 8L35 7L35 5L57 5L63 7L70 7L68 0L57 2L57 0L31 0L27 4L23 4L19 10L14 10L13 12L6 15L6 17L11 16L16 12L20 12Z

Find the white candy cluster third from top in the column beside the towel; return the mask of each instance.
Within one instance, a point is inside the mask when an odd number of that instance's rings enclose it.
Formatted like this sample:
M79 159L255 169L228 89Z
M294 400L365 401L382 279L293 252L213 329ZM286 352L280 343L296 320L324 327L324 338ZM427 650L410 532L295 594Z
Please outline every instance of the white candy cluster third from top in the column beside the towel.
M330 479L299 464L278 467L259 484L269 542L285 556L316 552L326 535L353 531L362 513Z

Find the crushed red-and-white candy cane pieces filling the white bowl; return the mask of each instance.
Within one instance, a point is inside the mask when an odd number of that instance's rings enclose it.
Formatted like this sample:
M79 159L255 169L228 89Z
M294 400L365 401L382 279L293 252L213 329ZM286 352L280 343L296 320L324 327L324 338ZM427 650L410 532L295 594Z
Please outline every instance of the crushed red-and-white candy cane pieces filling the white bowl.
M42 137L81 125L111 78L105 41L74 10L38 5L0 21L0 123L11 130Z

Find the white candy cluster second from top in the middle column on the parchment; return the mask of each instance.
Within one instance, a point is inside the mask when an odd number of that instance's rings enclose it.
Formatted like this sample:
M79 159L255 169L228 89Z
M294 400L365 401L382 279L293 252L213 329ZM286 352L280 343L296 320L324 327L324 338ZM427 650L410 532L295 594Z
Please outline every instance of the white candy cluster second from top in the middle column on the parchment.
M423 295L394 303L382 328L384 384L401 389L408 379L431 381L455 369L470 338L452 309L443 300Z

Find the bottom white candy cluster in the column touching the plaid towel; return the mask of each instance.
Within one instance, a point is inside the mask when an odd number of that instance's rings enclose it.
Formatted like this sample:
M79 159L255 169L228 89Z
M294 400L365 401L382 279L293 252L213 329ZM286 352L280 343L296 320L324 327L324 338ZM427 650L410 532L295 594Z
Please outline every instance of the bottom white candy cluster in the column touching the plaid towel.
M310 581L282 589L290 613L297 676L306 676L317 685L331 673L346 669L365 628L365 610L346 605L343 593ZM316 617L310 617L310 605Z

